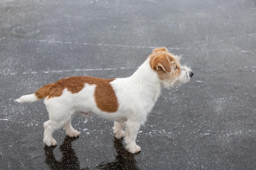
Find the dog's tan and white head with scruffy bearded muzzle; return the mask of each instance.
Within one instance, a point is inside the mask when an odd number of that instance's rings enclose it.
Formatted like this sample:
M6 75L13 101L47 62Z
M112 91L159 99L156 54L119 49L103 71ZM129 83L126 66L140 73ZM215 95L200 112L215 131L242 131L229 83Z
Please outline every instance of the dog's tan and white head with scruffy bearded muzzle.
M166 88L185 84L193 75L189 67L180 65L181 56L170 53L165 47L154 49L148 58L150 67Z

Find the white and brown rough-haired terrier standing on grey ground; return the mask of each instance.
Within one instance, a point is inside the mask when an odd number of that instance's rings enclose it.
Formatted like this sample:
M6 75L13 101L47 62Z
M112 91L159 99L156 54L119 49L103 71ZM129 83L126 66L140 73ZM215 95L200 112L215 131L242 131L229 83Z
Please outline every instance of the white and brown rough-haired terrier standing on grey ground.
M62 127L68 136L79 136L71 125L72 118L76 113L93 113L114 121L115 137L124 137L128 152L140 152L141 148L135 143L137 132L145 123L161 88L185 84L193 75L191 68L180 65L180 59L181 56L173 55L165 47L155 48L130 77L66 77L31 95L23 95L16 102L36 102L45 98L49 120L43 124L43 141L47 146L56 145L52 134Z

